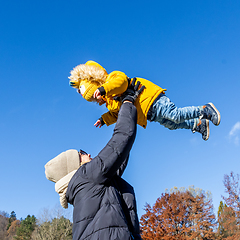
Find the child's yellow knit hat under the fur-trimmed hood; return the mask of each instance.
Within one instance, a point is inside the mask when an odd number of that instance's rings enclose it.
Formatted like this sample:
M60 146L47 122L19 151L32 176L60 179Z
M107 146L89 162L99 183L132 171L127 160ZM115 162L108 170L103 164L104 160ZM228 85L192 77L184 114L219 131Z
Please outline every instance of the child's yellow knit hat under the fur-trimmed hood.
M87 101L92 102L93 101L92 96L99 87L100 87L100 83L96 81L82 80L79 86L80 94Z

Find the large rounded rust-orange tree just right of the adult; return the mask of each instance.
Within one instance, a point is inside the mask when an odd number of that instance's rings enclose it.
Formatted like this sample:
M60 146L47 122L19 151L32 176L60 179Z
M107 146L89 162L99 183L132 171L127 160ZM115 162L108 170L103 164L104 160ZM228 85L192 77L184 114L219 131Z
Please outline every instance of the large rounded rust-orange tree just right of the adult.
M215 239L215 216L212 199L204 191L178 190L166 192L141 217L144 240Z

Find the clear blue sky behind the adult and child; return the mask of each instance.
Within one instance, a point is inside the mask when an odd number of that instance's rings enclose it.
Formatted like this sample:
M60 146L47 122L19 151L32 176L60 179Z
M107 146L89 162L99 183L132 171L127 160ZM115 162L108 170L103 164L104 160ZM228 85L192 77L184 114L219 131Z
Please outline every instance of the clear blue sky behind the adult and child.
M139 217L173 187L211 191L240 173L240 2L2 1L0 8L0 211L38 217L59 202L44 165L82 148L94 157L113 127L95 128L107 111L69 86L87 60L167 89L178 107L213 102L221 124L207 142L158 123L138 127L124 173Z

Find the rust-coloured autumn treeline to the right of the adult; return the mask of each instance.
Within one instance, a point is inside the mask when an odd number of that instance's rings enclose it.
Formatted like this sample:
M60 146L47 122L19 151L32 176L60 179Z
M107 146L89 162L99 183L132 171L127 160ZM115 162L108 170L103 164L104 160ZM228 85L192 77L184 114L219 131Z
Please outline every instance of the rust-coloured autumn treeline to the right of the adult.
M145 206L140 219L144 240L238 240L240 239L239 175L224 176L226 196L214 214L210 193L201 189L174 188Z

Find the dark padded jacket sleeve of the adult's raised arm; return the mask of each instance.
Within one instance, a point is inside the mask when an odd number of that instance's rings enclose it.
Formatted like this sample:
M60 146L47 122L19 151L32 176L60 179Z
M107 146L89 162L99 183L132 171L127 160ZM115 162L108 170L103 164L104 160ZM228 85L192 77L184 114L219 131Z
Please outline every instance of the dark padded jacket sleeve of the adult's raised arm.
M128 102L122 104L112 138L91 162L81 167L84 178L102 184L119 174L136 137L136 122L136 107Z

